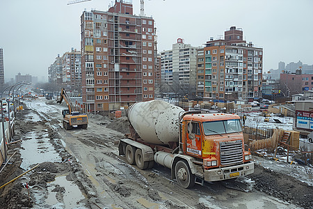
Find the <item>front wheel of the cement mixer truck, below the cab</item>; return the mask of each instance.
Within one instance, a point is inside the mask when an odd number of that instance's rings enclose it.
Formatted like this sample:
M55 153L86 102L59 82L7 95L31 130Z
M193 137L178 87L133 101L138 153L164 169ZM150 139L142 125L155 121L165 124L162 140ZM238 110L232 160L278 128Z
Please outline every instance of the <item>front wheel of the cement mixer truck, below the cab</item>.
M195 185L195 175L191 173L188 163L180 160L175 165L175 177L179 185L185 189L193 187Z

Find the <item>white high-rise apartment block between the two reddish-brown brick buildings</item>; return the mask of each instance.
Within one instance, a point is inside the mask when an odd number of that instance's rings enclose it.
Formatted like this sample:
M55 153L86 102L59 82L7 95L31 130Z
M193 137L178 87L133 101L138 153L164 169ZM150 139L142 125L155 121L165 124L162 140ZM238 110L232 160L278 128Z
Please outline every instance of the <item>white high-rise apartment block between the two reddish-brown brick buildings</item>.
M163 93L195 97L197 47L178 38L172 49L161 52L161 83Z

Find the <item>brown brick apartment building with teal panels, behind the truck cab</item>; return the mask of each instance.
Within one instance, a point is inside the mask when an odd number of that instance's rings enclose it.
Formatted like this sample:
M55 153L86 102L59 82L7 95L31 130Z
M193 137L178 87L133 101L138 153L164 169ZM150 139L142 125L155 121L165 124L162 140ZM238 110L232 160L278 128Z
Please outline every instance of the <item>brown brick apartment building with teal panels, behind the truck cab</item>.
M224 39L210 38L203 56L204 74L198 68L197 94L204 88L204 98L213 100L257 100L262 97L263 49L243 40L236 26L225 31Z

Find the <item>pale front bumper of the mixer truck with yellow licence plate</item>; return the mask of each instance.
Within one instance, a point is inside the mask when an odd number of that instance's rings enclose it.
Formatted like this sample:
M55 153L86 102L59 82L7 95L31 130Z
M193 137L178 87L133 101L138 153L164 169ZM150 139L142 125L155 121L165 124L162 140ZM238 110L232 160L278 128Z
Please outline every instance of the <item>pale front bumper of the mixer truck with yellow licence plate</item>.
M233 167L225 167L218 169L210 169L204 171L205 181L226 180L237 178L239 176L246 176L255 171L255 164L249 162L246 164L236 165Z

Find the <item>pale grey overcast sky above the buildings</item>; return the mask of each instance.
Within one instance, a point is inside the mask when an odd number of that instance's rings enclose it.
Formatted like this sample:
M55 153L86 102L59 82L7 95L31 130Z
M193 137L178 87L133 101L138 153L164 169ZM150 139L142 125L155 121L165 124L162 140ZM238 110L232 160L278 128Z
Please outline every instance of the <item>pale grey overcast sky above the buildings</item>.
M6 80L18 72L45 77L58 54L80 49L83 10L108 10L111 1L92 0L67 6L67 0L0 0L0 48ZM133 0L140 13L140 0ZM264 71L278 62L313 64L312 0L145 0L145 14L154 17L159 52L177 38L200 46L230 26L264 50Z

